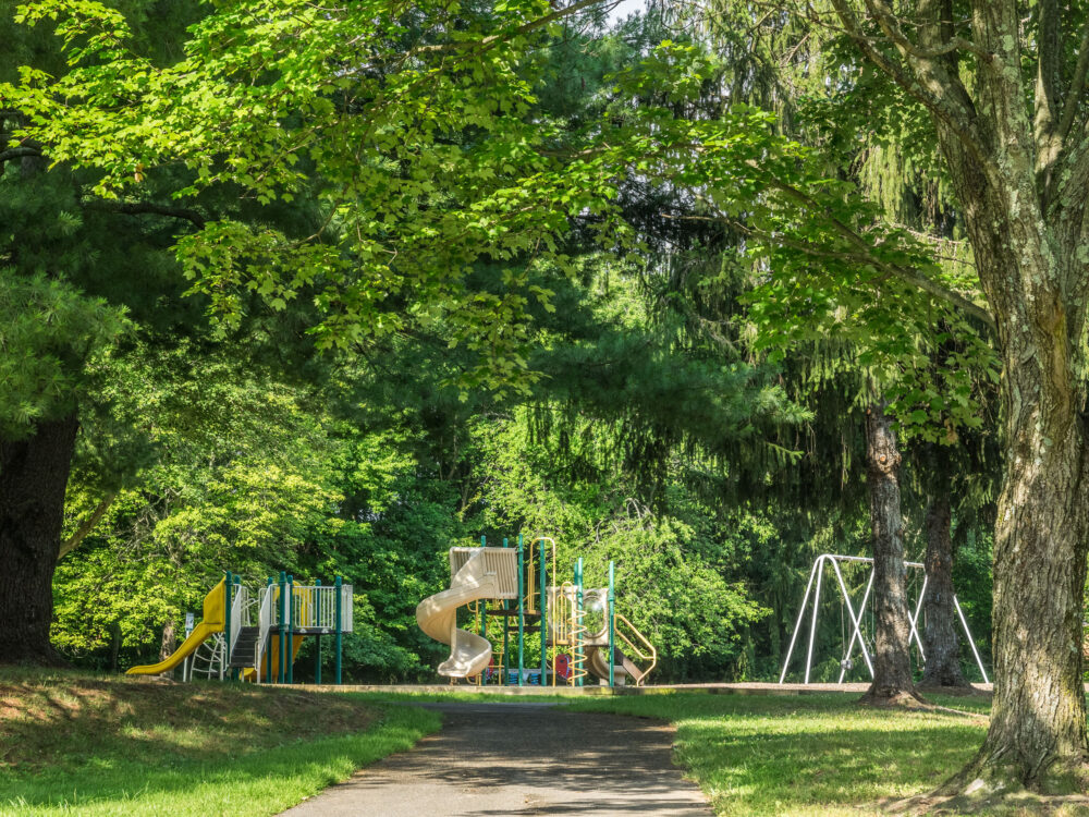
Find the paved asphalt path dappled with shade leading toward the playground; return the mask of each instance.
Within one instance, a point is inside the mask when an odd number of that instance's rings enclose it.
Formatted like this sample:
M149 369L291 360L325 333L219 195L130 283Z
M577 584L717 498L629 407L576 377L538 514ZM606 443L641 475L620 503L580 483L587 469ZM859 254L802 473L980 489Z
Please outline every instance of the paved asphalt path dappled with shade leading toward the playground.
M549 704L430 704L442 731L285 812L291 817L709 817L665 723Z

